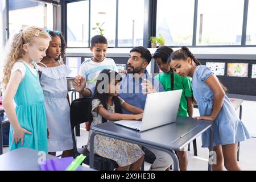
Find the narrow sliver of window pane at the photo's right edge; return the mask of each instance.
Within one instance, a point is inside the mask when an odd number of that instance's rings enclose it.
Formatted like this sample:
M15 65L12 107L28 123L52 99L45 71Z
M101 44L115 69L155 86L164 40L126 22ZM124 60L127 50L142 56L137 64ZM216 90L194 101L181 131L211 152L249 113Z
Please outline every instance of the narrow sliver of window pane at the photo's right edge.
M246 44L256 45L256 1L249 0L247 28L246 28Z

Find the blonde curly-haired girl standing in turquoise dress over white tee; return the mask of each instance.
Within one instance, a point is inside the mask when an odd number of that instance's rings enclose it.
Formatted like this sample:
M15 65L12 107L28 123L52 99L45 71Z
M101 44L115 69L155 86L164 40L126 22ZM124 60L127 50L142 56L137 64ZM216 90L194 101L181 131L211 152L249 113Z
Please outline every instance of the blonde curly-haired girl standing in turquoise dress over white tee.
M26 27L7 44L10 52L3 67L2 104L11 123L10 150L26 147L48 151L44 95L35 63L46 56L50 39L42 28Z

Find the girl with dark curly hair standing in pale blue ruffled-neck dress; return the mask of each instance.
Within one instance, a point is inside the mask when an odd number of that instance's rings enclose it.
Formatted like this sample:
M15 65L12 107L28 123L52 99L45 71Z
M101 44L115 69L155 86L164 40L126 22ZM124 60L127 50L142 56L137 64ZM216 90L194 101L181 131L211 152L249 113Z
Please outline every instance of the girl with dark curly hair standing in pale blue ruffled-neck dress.
M46 57L38 64L38 69L41 72L40 84L46 106L48 151L52 155L56 155L56 151L63 151L62 157L72 156L73 142L66 79L71 69L59 60L65 53L63 36L59 31L47 31L51 35L51 41Z

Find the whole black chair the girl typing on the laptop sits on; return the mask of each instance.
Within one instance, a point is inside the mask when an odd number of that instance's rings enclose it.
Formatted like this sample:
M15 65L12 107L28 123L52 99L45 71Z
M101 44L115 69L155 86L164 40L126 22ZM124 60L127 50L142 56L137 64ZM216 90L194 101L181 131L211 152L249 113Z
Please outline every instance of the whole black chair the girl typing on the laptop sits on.
M70 124L71 133L73 139L73 154L74 157L84 154L86 156L83 161L84 164L89 165L89 151L86 146L82 148L77 148L76 137L74 129L77 125L86 122L88 119L88 109L90 104L90 99L88 98L78 98L71 103L70 108ZM117 163L114 160L103 158L97 154L94 154L94 168L98 170L110 171L117 167Z

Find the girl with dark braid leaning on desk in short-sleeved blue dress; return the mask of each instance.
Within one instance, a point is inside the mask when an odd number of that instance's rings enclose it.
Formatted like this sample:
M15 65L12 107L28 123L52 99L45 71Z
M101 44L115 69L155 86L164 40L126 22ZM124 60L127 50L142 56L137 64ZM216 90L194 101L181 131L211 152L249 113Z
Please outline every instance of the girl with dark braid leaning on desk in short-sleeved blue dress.
M213 170L241 170L237 163L237 143L249 139L246 127L226 96L224 86L213 72L201 65L185 46L173 52L169 57L170 66L180 76L192 77L193 96L198 104L201 117L214 122L213 150L217 154L217 163ZM209 147L210 131L202 134L203 147Z

